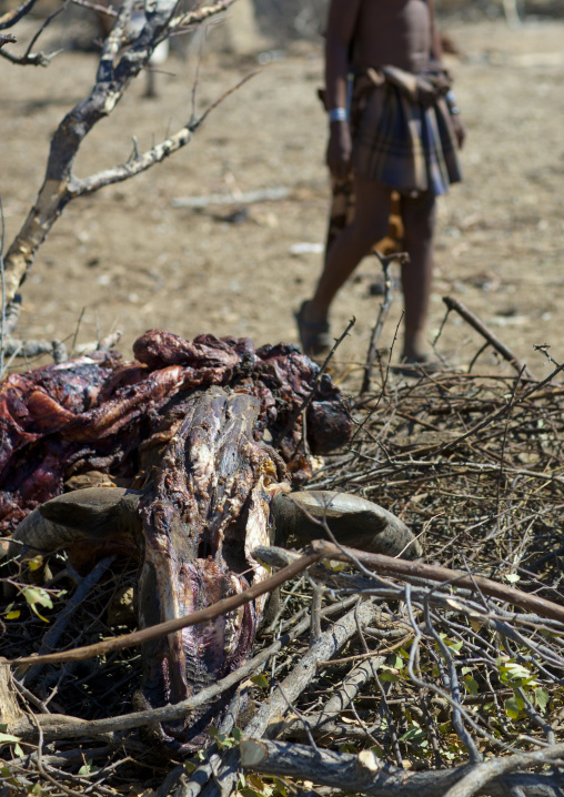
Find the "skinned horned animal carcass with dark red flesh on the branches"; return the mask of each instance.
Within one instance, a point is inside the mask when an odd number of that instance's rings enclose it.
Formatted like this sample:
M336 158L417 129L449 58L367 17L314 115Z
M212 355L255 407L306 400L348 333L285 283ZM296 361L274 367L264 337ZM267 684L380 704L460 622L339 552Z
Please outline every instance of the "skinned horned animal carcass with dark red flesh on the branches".
M316 385L318 366L295 349L152 331L134 352L133 363L98 354L3 383L2 522L21 518L12 555L66 548L84 561L94 548L137 551L139 625L148 627L263 579L253 549L274 533L314 538L326 524L349 544L421 554L403 523L375 504L292 492L309 468L296 413L308 394L316 391L306 424L314 453L344 445L352 430L343 396L326 376ZM121 486L63 492L93 468ZM137 704L178 703L239 667L264 602L147 643ZM228 699L163 724L162 740L202 746Z

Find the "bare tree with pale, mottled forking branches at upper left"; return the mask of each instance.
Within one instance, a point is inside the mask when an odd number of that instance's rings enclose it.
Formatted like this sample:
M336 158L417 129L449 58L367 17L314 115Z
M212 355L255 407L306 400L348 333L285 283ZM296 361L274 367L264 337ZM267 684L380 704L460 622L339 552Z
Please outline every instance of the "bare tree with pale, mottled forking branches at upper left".
M113 18L114 23L101 48L94 85L90 94L66 114L54 131L43 184L3 259L2 350L6 337L13 332L18 322L19 289L33 264L39 248L67 204L77 196L91 194L104 185L129 180L185 147L211 108L201 117L197 117L192 111L191 118L180 130L145 152L139 152L135 148L125 163L79 178L73 171L73 165L84 138L101 119L113 112L132 79L148 67L155 48L161 42L173 33L195 29L225 11L235 0L218 0L209 4L195 2L188 11L179 10L179 0L148 0L144 8L139 0L124 0L119 11L111 6L105 7L85 0L73 1L92 12ZM36 0L27 0L18 9L1 17L0 30L13 28L31 11L34 3ZM32 48L54 16L66 6L67 3L62 4L40 26L23 56L16 56L8 49L1 49L0 56L21 65L48 67L56 53L34 53ZM131 18L140 9L144 11L144 24L140 31L131 34ZM0 47L14 42L17 38L3 36Z

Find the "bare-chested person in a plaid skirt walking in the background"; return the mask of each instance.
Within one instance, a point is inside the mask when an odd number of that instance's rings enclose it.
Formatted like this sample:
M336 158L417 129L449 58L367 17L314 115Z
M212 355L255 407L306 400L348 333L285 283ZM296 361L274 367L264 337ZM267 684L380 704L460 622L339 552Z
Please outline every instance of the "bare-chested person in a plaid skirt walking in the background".
M313 359L329 353L331 304L360 261L386 235L394 199L410 255L402 265L402 360L430 362L425 322L435 198L462 179L457 150L465 135L441 56L433 0L330 2L326 163L335 202L345 195L345 203L354 204L354 218L345 225L343 212L336 235L332 219L315 293L295 314L302 350Z

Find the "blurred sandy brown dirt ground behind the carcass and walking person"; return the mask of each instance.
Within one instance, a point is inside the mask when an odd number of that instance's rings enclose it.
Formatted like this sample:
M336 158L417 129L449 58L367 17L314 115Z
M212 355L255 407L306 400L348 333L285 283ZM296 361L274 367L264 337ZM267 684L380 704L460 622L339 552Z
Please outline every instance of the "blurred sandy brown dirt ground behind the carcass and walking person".
M564 360L564 24L527 21L510 30L503 21L459 22L443 30L463 51L450 65L469 135L465 182L441 200L430 337L444 317L442 296L455 296L542 376L548 366L535 344L550 344ZM301 42L261 60L269 59L183 151L67 208L23 287L21 336L83 344L120 329L124 354L150 327L296 342L292 311L316 280L328 209L326 123L315 97L321 44ZM125 161L133 137L143 151L184 124L195 62L195 53L169 60L157 100L142 99L139 79L88 137L77 173ZM256 64L205 57L198 108ZM41 184L50 135L88 94L95 67L95 54L80 52L62 53L47 70L0 63L4 251ZM241 212L241 193L272 188L286 196ZM224 204L194 209L180 201L218 193ZM314 251L296 253L304 243ZM352 365L364 361L381 301L370 292L376 266L364 261L334 307L335 333L356 317L339 353ZM401 305L397 293L382 345L393 342ZM437 350L464 365L481 343L451 315ZM496 367L496 360L486 353L480 364Z

